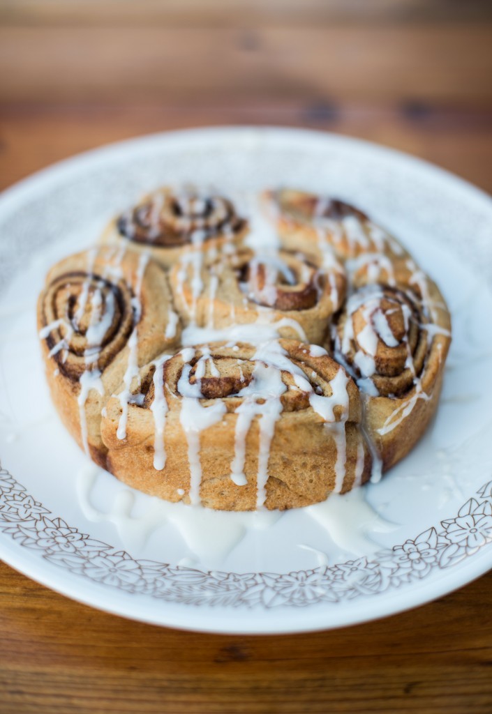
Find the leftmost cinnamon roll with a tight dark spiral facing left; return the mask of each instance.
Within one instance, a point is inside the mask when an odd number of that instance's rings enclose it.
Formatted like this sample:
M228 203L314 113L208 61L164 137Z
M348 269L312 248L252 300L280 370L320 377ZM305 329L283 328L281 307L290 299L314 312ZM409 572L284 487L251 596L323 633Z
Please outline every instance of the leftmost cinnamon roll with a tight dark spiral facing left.
M129 394L139 367L179 340L165 273L144 253L117 247L65 258L46 277L38 328L61 421L105 466L100 421L109 395L123 382Z

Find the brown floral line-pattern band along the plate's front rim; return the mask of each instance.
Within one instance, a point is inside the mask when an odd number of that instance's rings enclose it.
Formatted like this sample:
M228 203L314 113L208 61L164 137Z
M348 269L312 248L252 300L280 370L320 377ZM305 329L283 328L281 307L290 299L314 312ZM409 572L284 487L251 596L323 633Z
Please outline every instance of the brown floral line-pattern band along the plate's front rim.
M0 468L0 531L50 563L127 593L184 605L277 605L340 603L376 595L451 568L492 541L492 481L413 540L370 557L292 573L203 572L154 560L135 560L124 550L90 538L55 517L8 471Z

